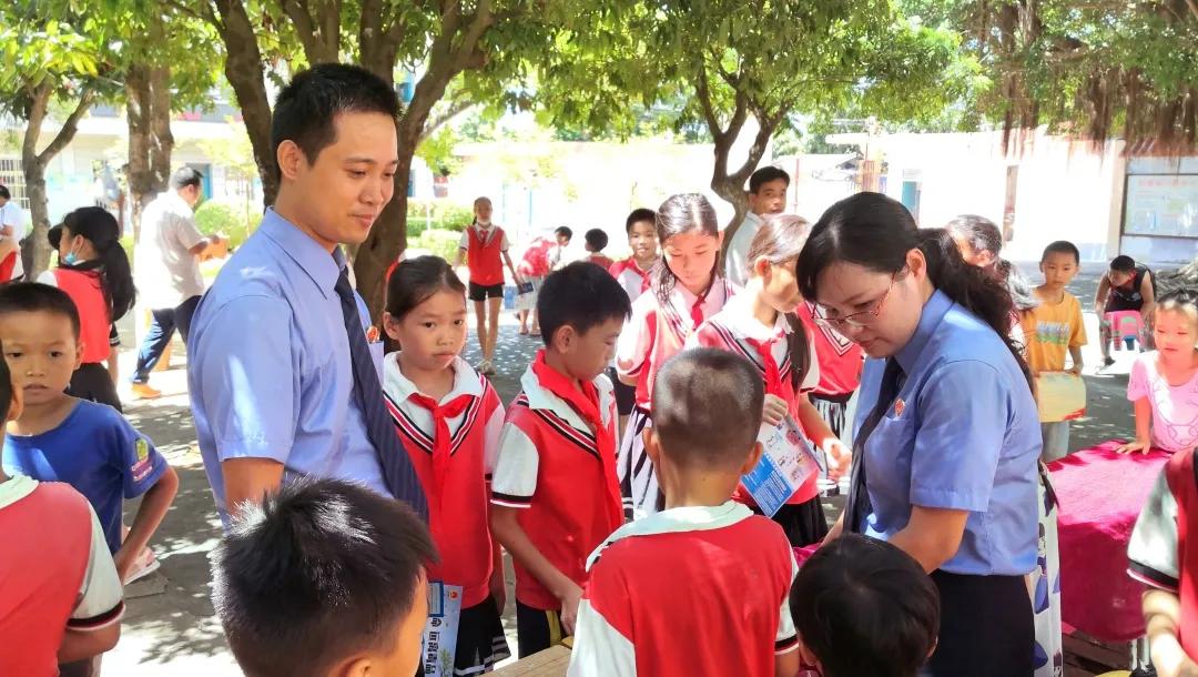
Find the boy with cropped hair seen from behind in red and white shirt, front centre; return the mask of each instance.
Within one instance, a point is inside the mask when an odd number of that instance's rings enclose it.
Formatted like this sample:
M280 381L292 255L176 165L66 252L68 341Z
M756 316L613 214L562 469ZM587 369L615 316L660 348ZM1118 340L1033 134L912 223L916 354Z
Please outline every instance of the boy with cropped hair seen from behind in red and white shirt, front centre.
M686 350L658 373L646 452L665 509L591 555L571 677L798 671L791 544L732 501L762 454L763 400L761 373L731 352Z

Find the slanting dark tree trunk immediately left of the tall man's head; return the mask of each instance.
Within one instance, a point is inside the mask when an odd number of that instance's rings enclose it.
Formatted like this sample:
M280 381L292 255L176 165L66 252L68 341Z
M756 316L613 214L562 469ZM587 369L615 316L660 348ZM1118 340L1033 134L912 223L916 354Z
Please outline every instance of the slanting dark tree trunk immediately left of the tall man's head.
M246 133L254 149L254 163L262 180L262 199L274 204L279 192L278 169L271 150L271 102L262 79L262 52L242 0L214 0L216 22L225 47L225 78L232 85Z

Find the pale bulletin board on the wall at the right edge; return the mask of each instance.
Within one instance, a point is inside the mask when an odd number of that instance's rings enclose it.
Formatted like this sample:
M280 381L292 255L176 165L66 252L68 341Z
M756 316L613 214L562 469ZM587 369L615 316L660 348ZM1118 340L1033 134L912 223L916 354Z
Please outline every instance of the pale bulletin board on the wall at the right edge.
M1124 235L1198 237L1198 174L1127 176Z

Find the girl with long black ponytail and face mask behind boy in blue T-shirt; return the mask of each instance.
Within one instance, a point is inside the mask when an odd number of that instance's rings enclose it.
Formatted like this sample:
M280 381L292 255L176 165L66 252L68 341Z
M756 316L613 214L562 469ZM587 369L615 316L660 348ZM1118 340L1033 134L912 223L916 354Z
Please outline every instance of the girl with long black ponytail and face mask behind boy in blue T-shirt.
M79 309L83 364L71 377L69 393L121 411L116 385L104 364L111 355L113 326L137 298L120 225L102 207L81 207L52 228L49 240L59 253L59 267L37 282L62 289Z

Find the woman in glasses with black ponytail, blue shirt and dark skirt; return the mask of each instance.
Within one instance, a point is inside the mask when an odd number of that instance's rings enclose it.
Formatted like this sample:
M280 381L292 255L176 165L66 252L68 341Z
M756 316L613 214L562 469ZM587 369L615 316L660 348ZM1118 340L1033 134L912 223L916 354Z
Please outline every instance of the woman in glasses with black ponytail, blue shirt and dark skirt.
M870 357L829 538L888 540L928 572L942 605L928 675L1030 677L1040 424L1010 296L877 193L824 212L797 267L818 321Z

